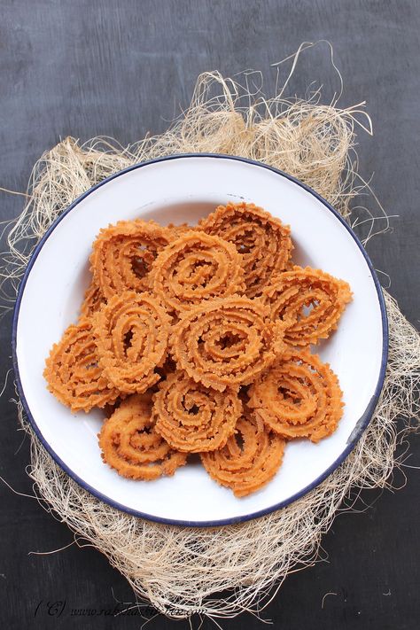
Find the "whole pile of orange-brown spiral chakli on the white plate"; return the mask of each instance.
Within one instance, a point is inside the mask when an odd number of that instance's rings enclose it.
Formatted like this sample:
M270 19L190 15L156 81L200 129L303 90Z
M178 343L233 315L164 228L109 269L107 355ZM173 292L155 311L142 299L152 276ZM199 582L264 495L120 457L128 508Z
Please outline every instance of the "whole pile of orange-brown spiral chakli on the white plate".
M241 497L273 478L286 439L336 429L338 378L310 344L335 330L352 293L291 255L290 228L245 202L198 226L101 230L80 320L44 376L73 411L108 409L105 463L152 480L198 453Z

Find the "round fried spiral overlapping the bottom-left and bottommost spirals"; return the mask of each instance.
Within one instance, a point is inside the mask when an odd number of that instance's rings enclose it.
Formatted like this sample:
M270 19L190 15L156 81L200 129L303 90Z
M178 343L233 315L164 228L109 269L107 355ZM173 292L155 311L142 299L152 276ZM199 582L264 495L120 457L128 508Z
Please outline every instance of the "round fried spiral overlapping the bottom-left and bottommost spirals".
M200 453L226 444L241 411L237 390L217 392L177 371L159 383L152 415L156 432L171 447Z

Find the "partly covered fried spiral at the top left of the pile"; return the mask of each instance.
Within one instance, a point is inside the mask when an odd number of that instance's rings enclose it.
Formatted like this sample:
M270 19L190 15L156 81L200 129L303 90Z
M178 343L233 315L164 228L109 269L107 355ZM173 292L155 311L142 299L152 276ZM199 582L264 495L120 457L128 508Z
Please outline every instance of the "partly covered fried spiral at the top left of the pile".
M154 221L119 221L101 229L89 261L105 298L130 289L146 290L152 262L169 240L168 230Z

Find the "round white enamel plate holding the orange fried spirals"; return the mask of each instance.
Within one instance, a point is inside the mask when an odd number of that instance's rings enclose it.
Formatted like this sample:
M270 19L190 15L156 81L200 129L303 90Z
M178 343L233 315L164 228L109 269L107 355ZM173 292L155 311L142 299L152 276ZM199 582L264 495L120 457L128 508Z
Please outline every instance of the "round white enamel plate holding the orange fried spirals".
M131 481L102 462L97 445L103 414L72 414L47 391L45 357L76 320L89 282L88 257L100 228L121 219L195 223L219 204L244 200L289 223L294 261L345 279L354 300L319 347L338 374L346 403L338 430L319 444L287 444L276 477L237 499L199 463L172 478ZM13 320L19 393L35 431L58 464L118 509L176 525L223 525L258 517L314 488L354 447L380 393L387 323L377 277L362 245L338 214L292 177L256 162L221 155L185 155L139 164L78 198L37 246L19 287Z

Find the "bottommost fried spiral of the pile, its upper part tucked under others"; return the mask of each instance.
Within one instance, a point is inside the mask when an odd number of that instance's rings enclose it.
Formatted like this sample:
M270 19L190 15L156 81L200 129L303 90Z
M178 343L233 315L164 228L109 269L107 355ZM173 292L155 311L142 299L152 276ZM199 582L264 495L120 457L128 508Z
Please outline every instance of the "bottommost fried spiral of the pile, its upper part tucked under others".
M284 439L268 432L261 419L245 411L226 446L202 453L201 461L214 481L241 497L259 490L275 476L283 461L284 445Z

